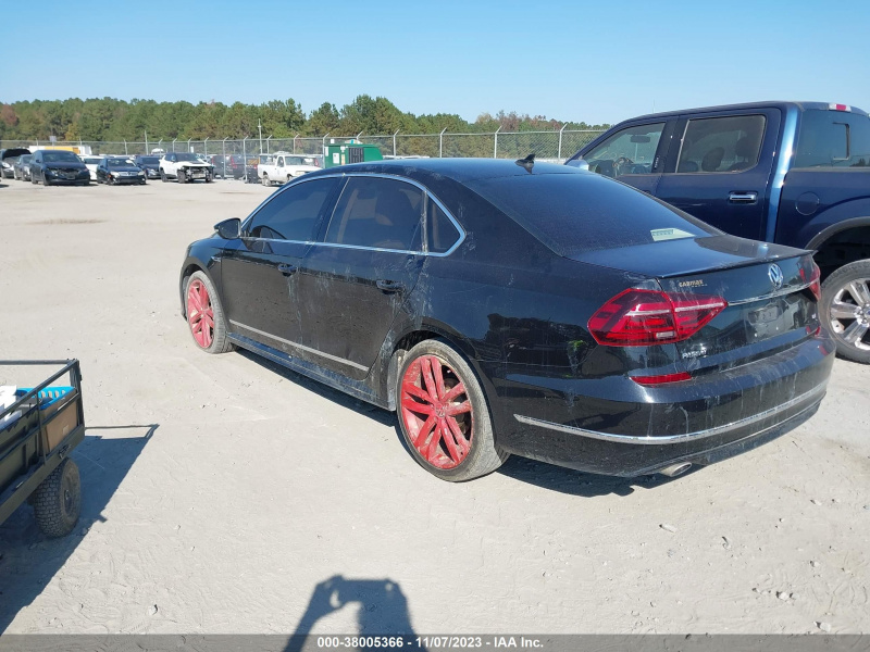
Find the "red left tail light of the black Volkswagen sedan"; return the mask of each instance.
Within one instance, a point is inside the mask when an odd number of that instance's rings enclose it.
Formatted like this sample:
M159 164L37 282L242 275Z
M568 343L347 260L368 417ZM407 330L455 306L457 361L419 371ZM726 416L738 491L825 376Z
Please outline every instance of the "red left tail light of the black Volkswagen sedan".
M589 333L599 344L645 347L692 337L728 308L721 297L686 299L655 290L629 289L592 316Z

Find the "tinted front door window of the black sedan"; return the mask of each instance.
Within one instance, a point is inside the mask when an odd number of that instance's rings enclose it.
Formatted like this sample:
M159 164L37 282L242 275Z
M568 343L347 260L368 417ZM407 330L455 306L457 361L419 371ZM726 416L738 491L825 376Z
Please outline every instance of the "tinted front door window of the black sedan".
M311 241L323 206L337 185L338 178L314 179L278 192L254 213L247 228L248 236Z

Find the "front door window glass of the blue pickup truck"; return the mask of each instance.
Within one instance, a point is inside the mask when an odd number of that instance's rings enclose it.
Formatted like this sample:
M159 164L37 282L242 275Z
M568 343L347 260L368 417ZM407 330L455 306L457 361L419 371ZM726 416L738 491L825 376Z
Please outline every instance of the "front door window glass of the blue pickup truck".
M583 154L583 160L591 171L605 176L649 174L663 130L663 122L627 127Z

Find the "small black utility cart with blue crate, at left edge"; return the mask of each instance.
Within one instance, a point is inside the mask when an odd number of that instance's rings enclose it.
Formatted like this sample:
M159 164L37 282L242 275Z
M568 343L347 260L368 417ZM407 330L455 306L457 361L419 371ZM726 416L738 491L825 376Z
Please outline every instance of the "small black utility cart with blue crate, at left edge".
M37 387L17 388L14 402L0 411L0 523L29 500L41 530L63 537L82 511L78 466L69 457L85 438L82 371L77 360L0 361L25 365L62 368ZM70 385L52 386L64 374Z

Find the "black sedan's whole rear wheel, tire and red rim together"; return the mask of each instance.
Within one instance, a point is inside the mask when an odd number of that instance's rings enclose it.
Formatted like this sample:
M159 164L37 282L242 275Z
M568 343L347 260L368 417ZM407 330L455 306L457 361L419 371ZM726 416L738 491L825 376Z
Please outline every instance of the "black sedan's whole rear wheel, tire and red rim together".
M456 393L460 385L462 391ZM409 386L415 389L407 389ZM407 353L396 397L405 441L417 463L434 476L451 482L471 480L494 472L509 457L496 446L489 406L476 374L447 342L424 340ZM451 408L465 410L449 413Z

